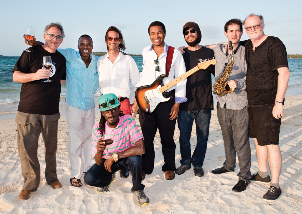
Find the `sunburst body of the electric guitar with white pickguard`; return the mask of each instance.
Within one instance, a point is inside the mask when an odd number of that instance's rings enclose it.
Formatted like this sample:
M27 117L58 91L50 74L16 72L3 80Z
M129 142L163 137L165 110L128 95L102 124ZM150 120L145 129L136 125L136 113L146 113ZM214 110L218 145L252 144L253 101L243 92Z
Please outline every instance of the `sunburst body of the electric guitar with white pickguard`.
M137 104L144 114L152 114L158 107L158 104L168 102L172 99L172 97L165 97L159 91L159 88L163 86L162 79L165 76L165 74L162 74L151 85L138 87L135 91Z

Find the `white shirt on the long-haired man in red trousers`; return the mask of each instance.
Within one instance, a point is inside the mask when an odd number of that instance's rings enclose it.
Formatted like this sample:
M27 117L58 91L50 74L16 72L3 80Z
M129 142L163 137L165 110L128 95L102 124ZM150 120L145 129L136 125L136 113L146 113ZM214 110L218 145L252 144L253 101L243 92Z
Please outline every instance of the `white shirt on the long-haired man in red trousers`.
M98 58L97 70L101 94L113 93L117 97L130 97L130 83L135 86L140 80L140 72L132 57L119 53L112 64L109 54Z

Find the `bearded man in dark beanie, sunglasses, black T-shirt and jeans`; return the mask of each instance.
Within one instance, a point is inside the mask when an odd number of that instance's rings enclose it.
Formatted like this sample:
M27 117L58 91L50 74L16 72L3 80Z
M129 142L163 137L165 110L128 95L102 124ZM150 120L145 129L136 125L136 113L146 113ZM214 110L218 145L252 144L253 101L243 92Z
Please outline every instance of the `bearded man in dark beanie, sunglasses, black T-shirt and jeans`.
M188 48L183 50L185 51L183 58L186 71L196 67L200 62L214 58L214 52L211 49L199 45L201 31L195 22L187 22L182 28L182 33L188 44ZM178 175L185 173L193 164L195 176L204 176L202 165L207 150L211 111L213 110L211 74L215 74L214 65L210 65L207 69L202 69L187 77L186 98L188 101L180 104L177 119L182 156L181 166L175 170ZM190 138L194 121L197 144L191 156Z

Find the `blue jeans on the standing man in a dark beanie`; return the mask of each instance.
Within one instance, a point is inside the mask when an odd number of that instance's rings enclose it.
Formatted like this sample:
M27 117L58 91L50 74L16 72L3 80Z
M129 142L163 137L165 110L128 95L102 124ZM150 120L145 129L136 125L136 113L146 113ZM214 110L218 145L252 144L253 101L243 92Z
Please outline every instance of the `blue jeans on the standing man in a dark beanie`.
M193 167L201 167L204 164L204 157L207 150L207 140L209 137L210 120L212 110L209 108L184 111L179 110L177 124L179 128L179 145L182 165ZM191 133L193 121L196 124L197 142L196 147L191 156Z

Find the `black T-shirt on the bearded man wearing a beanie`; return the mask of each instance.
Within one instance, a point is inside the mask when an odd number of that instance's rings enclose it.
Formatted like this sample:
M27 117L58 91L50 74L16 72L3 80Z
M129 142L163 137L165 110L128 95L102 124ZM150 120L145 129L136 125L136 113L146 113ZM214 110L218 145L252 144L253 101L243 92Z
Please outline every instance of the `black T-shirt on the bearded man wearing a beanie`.
M196 67L200 62L214 58L214 51L204 46L196 51L190 51L188 48L185 48L184 51L182 56L185 60L186 71ZM214 65L210 65L205 70L200 69L187 77L186 97L188 101L180 104L180 110L214 109L211 74L215 75Z

